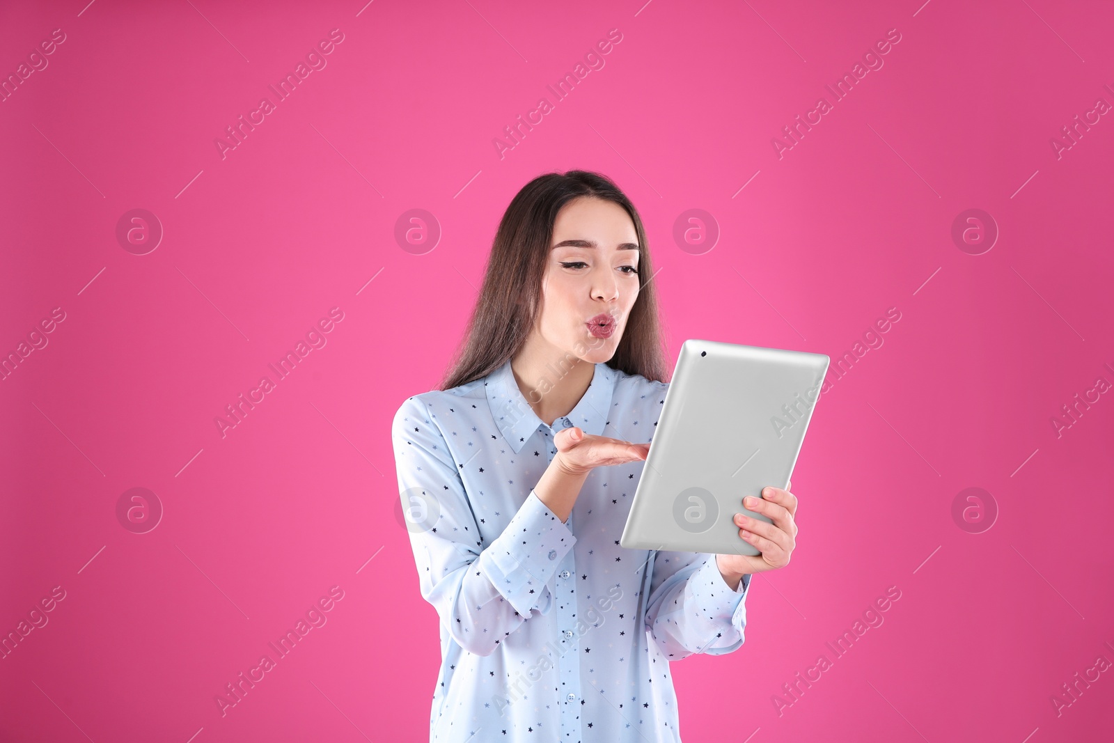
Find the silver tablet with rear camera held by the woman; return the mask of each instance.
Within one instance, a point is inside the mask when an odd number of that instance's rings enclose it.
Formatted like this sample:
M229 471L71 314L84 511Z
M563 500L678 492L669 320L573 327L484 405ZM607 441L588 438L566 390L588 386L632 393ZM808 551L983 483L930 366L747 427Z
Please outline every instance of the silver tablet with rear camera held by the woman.
M687 340L619 544L631 549L760 555L735 514L784 488L820 399L822 353Z

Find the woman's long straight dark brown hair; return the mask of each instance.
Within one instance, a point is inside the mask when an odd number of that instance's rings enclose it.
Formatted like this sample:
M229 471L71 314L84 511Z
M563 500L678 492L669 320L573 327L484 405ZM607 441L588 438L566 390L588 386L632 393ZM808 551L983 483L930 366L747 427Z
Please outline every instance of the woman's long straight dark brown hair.
M549 258L557 213L578 197L618 204L638 235L638 296L623 338L607 361L612 369L668 381L662 344L657 294L646 231L634 204L609 178L589 170L547 173L522 186L499 222L488 256L483 286L468 321L462 350L450 363L441 390L490 374L526 343L541 305L541 277Z

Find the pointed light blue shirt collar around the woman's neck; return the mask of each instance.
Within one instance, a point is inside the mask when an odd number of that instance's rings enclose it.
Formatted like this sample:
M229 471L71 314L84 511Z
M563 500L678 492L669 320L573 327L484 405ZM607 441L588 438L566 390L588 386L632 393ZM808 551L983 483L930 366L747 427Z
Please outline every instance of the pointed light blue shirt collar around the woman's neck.
M615 377L614 369L605 363L597 363L592 374L592 383L588 384L584 397L571 412L563 418L567 418L573 426L579 427L586 433L603 436L604 427L607 424L607 412L612 407ZM509 359L488 374L485 388L496 426L517 454L538 427L546 423L538 418L522 395L522 391L518 389ZM565 428L561 418L554 421L553 428L558 431Z

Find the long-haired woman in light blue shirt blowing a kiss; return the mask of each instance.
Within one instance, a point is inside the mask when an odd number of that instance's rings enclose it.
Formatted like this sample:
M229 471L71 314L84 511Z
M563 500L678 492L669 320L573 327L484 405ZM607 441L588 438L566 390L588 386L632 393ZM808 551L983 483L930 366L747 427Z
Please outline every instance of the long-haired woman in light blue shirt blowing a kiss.
M668 388L651 278L610 180L535 178L499 223L459 359L394 416L440 616L431 741L680 741L670 662L737 649L751 575L789 563L797 498L775 488L746 504L772 525L735 516L760 556L619 546Z

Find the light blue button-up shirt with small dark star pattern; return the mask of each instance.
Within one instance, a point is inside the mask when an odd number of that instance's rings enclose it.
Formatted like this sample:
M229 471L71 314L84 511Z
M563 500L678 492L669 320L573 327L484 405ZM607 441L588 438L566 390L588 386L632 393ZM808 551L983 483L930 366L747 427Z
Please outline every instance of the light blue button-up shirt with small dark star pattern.
M550 427L508 361L399 408L399 490L440 617L430 741L681 740L670 662L742 646L751 576L732 590L715 555L619 546L643 461L594 469L566 522L532 489L563 428L651 441L667 388L597 363Z

